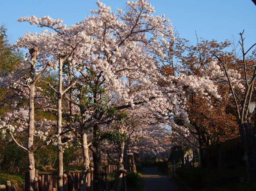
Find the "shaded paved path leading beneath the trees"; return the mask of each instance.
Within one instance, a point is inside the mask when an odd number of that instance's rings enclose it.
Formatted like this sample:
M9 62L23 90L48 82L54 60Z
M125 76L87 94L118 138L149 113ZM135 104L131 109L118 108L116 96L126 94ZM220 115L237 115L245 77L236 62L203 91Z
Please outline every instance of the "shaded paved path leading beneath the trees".
M143 191L179 191L170 177L163 175L157 167L143 168L141 178L144 181Z

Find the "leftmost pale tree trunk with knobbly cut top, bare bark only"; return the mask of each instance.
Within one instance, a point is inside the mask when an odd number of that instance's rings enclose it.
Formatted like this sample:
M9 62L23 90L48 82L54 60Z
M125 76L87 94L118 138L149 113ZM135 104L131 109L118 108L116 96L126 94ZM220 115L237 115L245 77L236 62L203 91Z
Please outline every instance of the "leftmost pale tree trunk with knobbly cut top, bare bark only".
M28 149L28 159L29 159L29 191L34 190L34 179L35 179L35 158L34 158L34 132L35 132L35 64L37 59L38 48L34 47L29 50L31 54L31 68L30 68L30 78L32 80L29 86L29 135L27 142Z

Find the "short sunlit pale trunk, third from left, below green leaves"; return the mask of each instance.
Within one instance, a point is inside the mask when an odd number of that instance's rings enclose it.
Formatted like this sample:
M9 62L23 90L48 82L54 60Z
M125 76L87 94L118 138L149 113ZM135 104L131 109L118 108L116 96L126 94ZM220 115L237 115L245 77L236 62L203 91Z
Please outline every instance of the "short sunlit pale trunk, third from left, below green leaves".
M90 189L90 181L87 181L87 175L90 170L90 159L89 159L89 147L87 144L87 135L86 133L82 134L82 150L83 150L83 177L82 177L82 187L80 191L88 191Z

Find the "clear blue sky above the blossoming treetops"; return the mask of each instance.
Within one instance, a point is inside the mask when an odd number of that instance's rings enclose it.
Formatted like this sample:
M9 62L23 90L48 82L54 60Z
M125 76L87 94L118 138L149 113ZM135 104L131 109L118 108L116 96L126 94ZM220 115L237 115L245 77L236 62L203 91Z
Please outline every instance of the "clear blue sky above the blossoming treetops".
M125 0L101 0L113 9L123 8ZM238 32L245 30L246 47L256 42L256 6L251 0L148 0L156 14L170 18L181 38L196 43L199 37L223 41L237 40ZM96 0L4 0L0 8L0 24L8 29L10 42L17 40L28 30L42 29L28 23L16 22L20 16L45 16L63 19L72 25L96 9Z

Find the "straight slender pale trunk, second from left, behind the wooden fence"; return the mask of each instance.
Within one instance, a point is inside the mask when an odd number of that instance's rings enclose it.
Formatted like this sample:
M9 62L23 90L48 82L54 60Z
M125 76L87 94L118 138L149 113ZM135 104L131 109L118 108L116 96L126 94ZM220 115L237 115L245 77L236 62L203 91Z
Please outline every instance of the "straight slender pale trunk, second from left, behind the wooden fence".
M58 191L63 191L63 144L61 141L61 131L62 131L62 67L63 58L59 58L59 91L57 100L57 149L58 149Z

